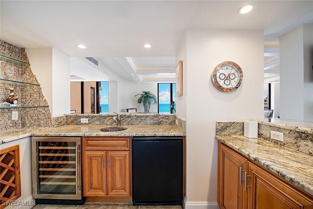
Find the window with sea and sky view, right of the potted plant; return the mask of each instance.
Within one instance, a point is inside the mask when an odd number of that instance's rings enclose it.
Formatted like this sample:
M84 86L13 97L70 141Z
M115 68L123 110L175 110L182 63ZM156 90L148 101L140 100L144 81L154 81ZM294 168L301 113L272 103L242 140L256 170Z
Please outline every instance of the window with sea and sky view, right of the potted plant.
M157 84L157 112L171 113L170 106L172 101L175 106L172 113L176 112L176 84L175 83L159 83Z

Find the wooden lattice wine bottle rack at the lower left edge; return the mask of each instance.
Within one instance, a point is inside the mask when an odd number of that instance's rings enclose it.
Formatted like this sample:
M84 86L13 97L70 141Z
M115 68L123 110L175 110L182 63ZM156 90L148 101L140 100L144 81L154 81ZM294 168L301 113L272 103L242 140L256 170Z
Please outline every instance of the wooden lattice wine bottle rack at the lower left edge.
M12 146L0 150L0 209L21 197L20 147Z

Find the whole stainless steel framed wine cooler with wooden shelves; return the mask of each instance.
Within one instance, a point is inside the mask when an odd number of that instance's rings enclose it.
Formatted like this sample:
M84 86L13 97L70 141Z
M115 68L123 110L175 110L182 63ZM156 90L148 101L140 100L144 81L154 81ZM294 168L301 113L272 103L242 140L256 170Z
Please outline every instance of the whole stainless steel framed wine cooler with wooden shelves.
M81 138L33 137L33 198L57 204L82 200ZM22 175L22 173L21 173ZM49 199L51 199L49 201ZM52 200L54 199L54 201ZM65 202L60 202L65 203Z

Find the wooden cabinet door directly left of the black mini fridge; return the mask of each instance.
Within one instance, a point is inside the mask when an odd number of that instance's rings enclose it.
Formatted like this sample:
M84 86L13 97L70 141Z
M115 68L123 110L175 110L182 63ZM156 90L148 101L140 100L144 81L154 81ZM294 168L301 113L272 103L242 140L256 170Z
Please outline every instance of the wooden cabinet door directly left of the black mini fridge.
M108 153L108 196L130 195L130 152Z

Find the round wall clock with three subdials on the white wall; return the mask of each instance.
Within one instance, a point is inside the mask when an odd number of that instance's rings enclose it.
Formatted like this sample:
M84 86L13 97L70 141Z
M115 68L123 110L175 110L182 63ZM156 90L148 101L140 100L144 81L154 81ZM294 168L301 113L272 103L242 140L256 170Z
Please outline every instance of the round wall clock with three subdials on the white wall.
M211 74L213 86L221 92L231 92L238 89L243 77L243 70L231 61L218 64Z

